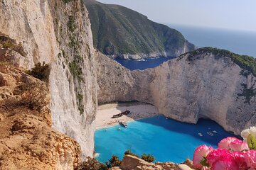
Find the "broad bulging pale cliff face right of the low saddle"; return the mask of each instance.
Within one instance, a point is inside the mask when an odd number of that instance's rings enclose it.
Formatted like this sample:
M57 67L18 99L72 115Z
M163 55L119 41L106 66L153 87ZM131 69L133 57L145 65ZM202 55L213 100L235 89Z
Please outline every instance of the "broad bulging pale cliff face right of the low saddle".
M249 104L239 94L243 89L241 84L255 82L255 77L242 76L242 69L229 57L212 54L199 55L194 60L187 57L165 62L152 70L156 79L151 82L150 90L159 112L189 123L210 118L236 134L254 125L249 122L255 122L255 97ZM252 83L250 86L255 89Z

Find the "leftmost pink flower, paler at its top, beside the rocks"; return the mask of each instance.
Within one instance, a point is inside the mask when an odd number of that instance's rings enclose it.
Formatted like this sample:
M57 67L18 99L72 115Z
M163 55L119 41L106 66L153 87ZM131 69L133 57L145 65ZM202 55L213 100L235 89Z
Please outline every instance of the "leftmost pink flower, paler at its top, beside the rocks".
M211 151L213 151L213 147L207 147L206 145L201 145L196 148L193 154L193 165L196 169L200 169L203 166L201 161L205 159Z

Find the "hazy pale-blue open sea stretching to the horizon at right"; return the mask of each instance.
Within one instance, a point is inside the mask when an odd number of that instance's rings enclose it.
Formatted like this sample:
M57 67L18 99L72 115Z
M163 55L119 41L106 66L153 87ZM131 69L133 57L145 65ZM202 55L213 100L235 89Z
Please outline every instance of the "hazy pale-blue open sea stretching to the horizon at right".
M180 31L189 42L197 47L218 47L240 55L256 57L256 30L249 32L175 24L168 24L168 26Z

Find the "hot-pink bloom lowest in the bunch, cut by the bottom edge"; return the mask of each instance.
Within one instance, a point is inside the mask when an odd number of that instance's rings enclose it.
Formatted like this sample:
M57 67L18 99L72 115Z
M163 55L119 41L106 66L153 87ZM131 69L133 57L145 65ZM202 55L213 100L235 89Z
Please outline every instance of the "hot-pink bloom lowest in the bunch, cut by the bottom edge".
M211 170L240 170L238 164L235 163L235 159L232 158L220 158L213 163Z

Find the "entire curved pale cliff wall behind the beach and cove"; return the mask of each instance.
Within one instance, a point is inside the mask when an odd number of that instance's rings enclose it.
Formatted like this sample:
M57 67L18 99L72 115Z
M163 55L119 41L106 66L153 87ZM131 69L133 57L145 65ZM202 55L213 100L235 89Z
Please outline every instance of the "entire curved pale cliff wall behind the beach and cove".
M107 82L99 84L99 94L105 94L98 96L102 103L143 101L169 118L188 123L210 118L235 134L256 123L256 79L230 56L211 51L186 54L154 69L133 72L105 60L100 63L105 69L97 74L98 81L107 77ZM123 86L112 84L115 81Z

